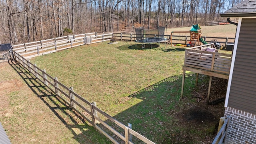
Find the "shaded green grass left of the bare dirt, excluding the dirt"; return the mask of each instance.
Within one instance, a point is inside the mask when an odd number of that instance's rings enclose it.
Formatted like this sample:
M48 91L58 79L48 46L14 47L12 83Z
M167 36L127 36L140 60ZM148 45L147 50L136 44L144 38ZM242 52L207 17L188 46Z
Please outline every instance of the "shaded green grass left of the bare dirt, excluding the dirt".
M129 97L142 100L120 112L114 118L123 124L132 124L132 129L158 144L192 141L188 133L174 118L180 109L180 86L182 76L171 76L131 94ZM136 143L136 142L134 142Z

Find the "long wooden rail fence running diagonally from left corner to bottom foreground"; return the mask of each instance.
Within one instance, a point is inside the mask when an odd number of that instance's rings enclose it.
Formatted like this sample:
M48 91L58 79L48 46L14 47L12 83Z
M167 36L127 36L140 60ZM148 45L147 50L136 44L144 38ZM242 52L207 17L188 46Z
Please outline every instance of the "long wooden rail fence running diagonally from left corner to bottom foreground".
M67 87L58 81L57 77L52 77L46 72L32 64L25 56L13 51L14 60L26 68L37 80L48 87L56 96L62 99L70 108L75 110L84 119L86 119L94 128L109 138L113 143L125 144L155 144L138 132L125 126L106 112L96 107L96 103L89 102L82 96L76 94L72 87ZM104 120L103 120L104 119Z

